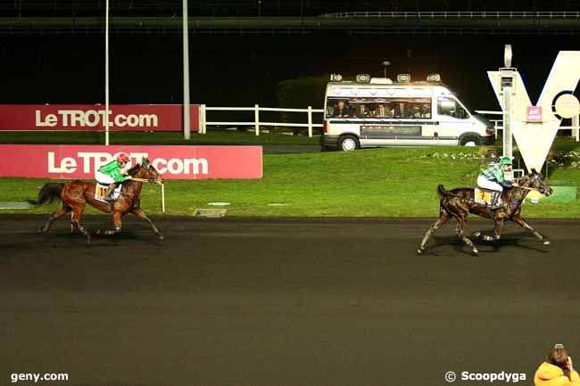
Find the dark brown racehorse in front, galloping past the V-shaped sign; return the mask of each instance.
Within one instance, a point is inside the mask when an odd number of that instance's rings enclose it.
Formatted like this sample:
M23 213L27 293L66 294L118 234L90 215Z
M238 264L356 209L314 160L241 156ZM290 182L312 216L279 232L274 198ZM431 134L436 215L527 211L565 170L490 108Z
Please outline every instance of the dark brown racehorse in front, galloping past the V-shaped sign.
M545 196L549 196L553 193L550 185L548 185L548 181L541 173L538 173L533 168L532 173L529 173L524 177L519 177L515 183L514 186L503 191L501 200L504 202L504 205L500 209L494 210L490 209L487 205L477 203L474 200L473 188L460 187L448 191L443 187L443 185L437 186L437 193L441 197L439 203L439 218L423 237L421 245L417 250L418 254L420 255L425 251L425 244L427 244L427 240L429 240L431 234L435 234L435 231L443 226L443 224L450 219L455 218L457 220L455 233L463 242L468 244L471 248L471 252L476 255L478 252L476 246L465 234L463 234L469 213L476 214L483 218L492 218L495 222L493 236L488 236L480 231L474 232L473 234L473 236L480 237L487 242L500 240L501 228L506 221L510 220L518 224L518 226L522 226L533 233L543 242L544 245L550 244L550 241L548 241L545 236L536 232L535 229L532 226L529 226L526 223L526 220L524 220L520 215L521 204L530 190L537 190Z

